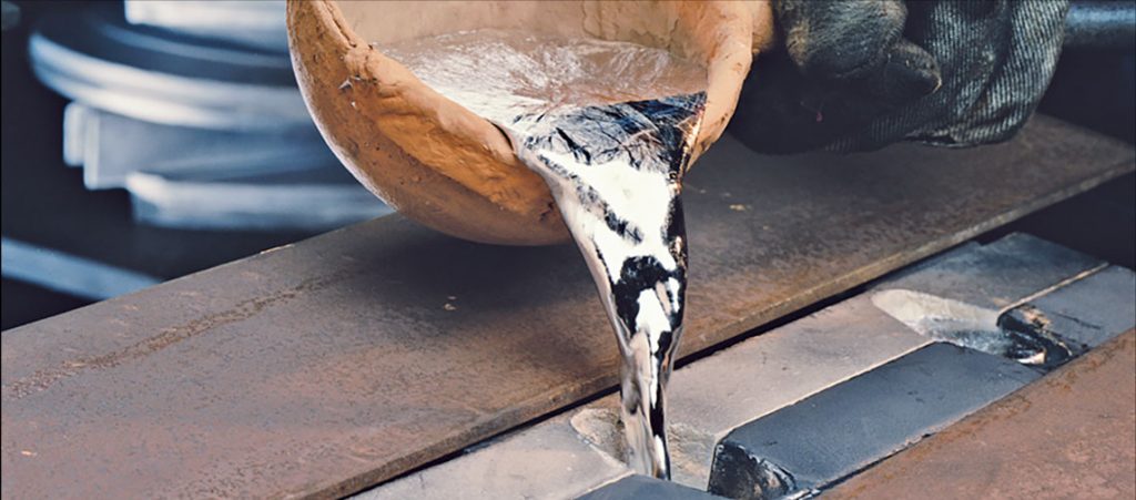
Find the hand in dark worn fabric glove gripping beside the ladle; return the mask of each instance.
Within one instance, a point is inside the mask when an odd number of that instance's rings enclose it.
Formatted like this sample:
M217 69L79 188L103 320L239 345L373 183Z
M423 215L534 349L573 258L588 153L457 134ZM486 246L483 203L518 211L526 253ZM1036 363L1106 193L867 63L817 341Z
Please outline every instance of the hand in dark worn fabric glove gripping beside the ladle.
M772 153L1009 139L1056 66L1068 0L774 0L732 132Z

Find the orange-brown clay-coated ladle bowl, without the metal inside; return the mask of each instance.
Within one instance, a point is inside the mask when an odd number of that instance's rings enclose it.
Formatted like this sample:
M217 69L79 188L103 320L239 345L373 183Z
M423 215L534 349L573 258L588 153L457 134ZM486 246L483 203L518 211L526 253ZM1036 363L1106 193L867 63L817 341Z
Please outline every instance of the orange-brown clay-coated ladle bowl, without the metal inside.
M498 28L665 48L707 68L700 155L733 115L753 51L771 44L771 17L737 1L287 2L300 90L344 166L407 217L501 244L568 240L549 189L493 124L371 43Z

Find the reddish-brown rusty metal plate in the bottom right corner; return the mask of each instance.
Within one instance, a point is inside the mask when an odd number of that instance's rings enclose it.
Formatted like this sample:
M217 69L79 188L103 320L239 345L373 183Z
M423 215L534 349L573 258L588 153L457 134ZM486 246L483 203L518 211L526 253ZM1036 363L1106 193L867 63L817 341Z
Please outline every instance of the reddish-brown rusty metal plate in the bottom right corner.
M1136 498L1136 331L824 498Z

